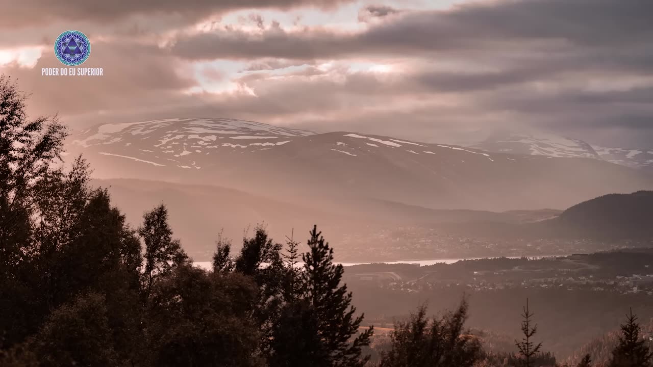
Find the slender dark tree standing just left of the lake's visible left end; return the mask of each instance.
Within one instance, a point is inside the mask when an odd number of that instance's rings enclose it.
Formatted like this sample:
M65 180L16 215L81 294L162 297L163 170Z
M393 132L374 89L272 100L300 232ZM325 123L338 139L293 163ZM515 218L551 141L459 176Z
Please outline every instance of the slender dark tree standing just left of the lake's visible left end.
M174 266L188 261L188 257L179 240L172 239L168 209L163 204L143 215L138 234L145 242L144 291L150 295L155 280L172 272Z

